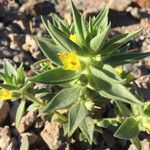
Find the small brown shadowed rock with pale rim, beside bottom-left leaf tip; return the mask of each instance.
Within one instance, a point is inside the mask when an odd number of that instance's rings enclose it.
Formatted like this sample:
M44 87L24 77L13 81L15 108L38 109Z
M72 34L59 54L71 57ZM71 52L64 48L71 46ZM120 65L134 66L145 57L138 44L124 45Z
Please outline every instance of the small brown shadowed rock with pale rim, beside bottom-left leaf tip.
M37 142L38 140L38 136L34 133L23 133L21 134L21 137L23 138L24 136L27 136L28 137L28 140L29 140L29 144L30 145L33 145Z

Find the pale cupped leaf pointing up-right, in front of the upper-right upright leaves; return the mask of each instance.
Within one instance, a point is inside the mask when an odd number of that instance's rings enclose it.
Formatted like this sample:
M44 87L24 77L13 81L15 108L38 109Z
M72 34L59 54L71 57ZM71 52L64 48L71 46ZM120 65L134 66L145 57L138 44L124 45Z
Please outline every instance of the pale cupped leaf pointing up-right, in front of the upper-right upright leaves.
M99 34L97 34L91 41L90 41L90 47L93 51L99 51L102 46L104 45L104 42L107 38L107 35L109 33L110 24Z

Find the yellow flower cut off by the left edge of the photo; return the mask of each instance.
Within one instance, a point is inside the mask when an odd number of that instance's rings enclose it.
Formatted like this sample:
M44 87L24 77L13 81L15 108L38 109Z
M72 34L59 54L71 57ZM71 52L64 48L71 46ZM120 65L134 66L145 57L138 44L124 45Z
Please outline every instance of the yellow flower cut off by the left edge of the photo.
M0 101L10 100L13 98L12 92L6 89L0 90Z

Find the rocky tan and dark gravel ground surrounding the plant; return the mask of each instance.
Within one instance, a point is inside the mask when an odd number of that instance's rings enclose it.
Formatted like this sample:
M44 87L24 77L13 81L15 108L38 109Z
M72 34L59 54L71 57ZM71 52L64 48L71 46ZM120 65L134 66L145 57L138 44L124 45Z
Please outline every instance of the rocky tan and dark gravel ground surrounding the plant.
M76 6L87 17L96 15L108 3L111 10L109 19L112 22L111 36L130 32L143 27L143 32L131 42L130 50L150 51L150 1L149 0L74 0ZM121 3L120 3L121 2ZM18 66L24 62L28 72L30 65L43 58L35 41L30 35L47 34L40 16L50 17L57 13L62 18L71 20L69 0L0 0L0 68L3 59L9 59ZM150 99L150 58L127 66L132 71L136 82L141 87L146 100ZM127 150L127 141L117 140L112 136L114 129L97 135L98 145L70 141L62 137L57 125L43 118L37 118L37 111L27 113L18 129L14 117L18 102L0 102L0 148L17 150L23 141L29 142L31 150L66 149L66 150ZM111 108L111 106L108 106ZM107 109L110 110L111 109ZM107 112L108 114L111 112ZM140 135L143 150L150 150L150 136ZM23 147L23 146L22 146ZM130 146L133 150L133 146Z

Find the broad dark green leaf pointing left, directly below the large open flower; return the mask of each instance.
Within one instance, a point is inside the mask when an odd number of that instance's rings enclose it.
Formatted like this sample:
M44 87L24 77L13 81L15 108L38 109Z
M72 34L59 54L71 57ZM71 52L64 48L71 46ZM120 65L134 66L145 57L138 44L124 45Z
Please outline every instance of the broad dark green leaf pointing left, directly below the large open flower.
M29 80L45 84L59 84L72 81L77 79L79 76L80 75L75 71L56 68L40 73L32 78L29 78Z

